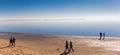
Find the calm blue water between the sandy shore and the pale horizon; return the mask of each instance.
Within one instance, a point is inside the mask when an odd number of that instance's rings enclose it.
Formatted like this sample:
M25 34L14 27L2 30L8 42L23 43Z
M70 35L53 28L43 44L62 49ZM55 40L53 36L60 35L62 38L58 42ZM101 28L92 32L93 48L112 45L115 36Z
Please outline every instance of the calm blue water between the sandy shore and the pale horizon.
M40 34L120 36L120 23L81 21L1 21L0 32L26 32Z

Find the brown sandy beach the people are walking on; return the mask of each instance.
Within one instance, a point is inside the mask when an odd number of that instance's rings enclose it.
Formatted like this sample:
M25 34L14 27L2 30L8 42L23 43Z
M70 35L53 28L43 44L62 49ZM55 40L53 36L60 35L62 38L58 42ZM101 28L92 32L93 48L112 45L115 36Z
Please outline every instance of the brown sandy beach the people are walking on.
M75 50L68 55L120 55L120 38L98 40L93 36L14 34L15 47L8 47L9 37L1 36L0 55L60 55L65 50L66 40L73 42Z

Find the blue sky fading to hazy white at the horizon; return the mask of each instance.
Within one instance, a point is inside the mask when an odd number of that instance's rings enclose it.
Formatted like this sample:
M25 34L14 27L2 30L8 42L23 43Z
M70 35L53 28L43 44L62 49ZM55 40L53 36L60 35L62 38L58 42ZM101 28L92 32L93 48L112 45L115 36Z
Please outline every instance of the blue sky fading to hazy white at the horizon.
M120 0L0 0L0 20L120 21Z

